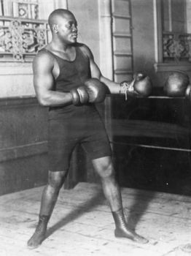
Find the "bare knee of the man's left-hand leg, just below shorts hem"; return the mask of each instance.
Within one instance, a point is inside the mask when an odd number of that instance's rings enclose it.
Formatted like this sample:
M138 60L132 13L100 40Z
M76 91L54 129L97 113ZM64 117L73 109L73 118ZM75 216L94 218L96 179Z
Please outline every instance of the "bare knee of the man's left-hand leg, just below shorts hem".
M55 190L61 189L65 180L66 172L50 172L48 176L48 184Z

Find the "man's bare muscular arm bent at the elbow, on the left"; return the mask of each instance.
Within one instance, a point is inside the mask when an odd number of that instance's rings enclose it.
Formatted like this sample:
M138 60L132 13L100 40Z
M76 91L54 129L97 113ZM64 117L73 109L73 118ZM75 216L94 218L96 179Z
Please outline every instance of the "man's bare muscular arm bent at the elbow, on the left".
M34 89L39 103L43 106L69 105L72 101L70 93L52 91L54 77L54 59L47 53L39 53L33 62Z

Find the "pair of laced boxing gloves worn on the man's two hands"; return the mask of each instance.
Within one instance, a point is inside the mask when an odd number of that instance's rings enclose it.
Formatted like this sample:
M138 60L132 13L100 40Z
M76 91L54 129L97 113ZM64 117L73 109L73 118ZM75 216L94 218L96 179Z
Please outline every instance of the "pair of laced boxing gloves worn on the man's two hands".
M141 73L133 76L133 80L120 83L119 94L125 94L125 98L148 97L152 91L152 83L148 76ZM72 103L83 105L86 103L103 102L108 92L104 83L97 78L90 78L85 81L84 86L71 89Z

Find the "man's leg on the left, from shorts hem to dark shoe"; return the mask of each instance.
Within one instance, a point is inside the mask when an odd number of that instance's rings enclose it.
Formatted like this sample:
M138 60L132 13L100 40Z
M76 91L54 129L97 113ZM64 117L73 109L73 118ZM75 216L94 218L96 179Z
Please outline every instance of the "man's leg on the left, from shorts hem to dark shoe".
M39 223L34 235L28 240L28 248L34 249L39 246L45 238L47 222L50 219L53 208L58 198L59 191L63 185L68 171L49 172L47 186L44 187L39 213Z

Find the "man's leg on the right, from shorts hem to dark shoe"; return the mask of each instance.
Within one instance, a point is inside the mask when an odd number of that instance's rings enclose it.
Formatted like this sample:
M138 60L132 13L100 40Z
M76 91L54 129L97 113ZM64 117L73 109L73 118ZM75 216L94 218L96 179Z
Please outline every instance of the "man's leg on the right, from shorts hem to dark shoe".
M139 236L133 230L130 230L125 222L122 210L122 198L120 187L117 184L114 167L111 157L101 157L93 159L93 167L101 178L101 184L104 189L104 195L109 201L116 229L114 231L116 237L129 238L133 241L145 244L148 242L146 238Z

